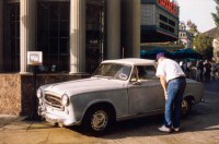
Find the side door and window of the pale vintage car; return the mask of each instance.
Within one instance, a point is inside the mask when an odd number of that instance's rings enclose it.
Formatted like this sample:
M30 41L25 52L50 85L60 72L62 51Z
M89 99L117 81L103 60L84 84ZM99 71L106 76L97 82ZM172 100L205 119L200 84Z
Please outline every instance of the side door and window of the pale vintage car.
M129 115L155 112L164 109L163 88L155 76L154 65L134 68L128 84Z

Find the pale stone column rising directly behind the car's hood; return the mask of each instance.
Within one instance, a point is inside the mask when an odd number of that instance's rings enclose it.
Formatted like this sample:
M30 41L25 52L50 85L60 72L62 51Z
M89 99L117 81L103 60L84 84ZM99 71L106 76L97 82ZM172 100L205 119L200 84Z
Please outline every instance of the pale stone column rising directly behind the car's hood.
M70 74L85 71L85 0L70 1Z

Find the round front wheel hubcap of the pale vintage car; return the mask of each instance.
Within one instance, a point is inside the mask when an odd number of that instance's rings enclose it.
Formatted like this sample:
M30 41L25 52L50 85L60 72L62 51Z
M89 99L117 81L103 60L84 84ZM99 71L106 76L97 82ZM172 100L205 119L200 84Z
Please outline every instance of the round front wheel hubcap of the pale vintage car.
M108 122L107 113L103 110L94 112L91 119L91 125L95 131L101 131L105 129L107 122Z

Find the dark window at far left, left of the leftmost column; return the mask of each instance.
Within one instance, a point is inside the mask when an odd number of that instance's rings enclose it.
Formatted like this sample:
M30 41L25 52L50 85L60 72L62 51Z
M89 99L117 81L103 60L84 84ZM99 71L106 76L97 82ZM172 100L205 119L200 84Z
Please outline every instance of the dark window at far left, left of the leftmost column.
M19 72L20 3L5 3L4 12L4 72Z

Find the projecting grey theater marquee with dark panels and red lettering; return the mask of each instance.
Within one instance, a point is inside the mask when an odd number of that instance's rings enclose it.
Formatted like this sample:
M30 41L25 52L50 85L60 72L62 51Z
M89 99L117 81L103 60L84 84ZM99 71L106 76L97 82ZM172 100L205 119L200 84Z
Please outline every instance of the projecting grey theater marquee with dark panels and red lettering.
M170 0L141 0L141 43L175 41L178 5Z

